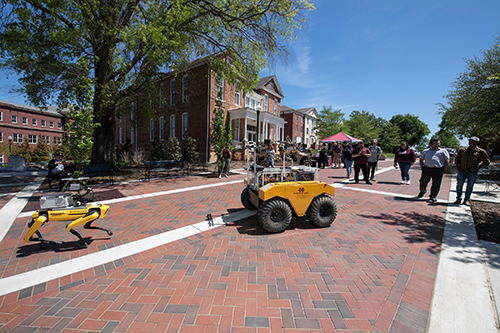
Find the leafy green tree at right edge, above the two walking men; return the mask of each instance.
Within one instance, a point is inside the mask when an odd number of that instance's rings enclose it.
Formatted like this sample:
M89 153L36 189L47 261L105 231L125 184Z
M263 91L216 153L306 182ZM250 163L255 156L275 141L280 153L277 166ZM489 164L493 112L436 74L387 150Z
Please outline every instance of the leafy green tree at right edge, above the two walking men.
M500 37L480 57L466 59L466 71L451 84L439 103L441 128L460 138L500 140Z

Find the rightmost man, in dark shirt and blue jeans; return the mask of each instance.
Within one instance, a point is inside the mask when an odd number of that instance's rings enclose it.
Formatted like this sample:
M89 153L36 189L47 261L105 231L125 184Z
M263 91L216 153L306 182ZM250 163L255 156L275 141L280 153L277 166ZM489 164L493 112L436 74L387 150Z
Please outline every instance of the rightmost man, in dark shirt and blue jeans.
M479 138L474 136L469 139L469 147L461 148L458 151L455 160L457 165L457 200L455 200L455 204L461 203L464 183L467 180L463 204L470 206L470 195L477 180L477 172L490 164L488 153L479 148L478 143Z

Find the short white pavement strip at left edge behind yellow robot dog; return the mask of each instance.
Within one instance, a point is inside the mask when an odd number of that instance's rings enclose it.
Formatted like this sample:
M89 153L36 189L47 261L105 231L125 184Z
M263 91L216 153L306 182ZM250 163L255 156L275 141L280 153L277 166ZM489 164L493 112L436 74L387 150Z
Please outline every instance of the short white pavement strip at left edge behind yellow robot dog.
M45 177L35 178L33 183L19 191L19 193L17 193L14 198L9 200L9 202L7 202L7 204L0 210L0 242L2 242L5 235L9 232L10 227L18 217L19 213L28 203L29 198L31 198L36 189L42 185L44 179ZM28 216L31 216L31 214Z

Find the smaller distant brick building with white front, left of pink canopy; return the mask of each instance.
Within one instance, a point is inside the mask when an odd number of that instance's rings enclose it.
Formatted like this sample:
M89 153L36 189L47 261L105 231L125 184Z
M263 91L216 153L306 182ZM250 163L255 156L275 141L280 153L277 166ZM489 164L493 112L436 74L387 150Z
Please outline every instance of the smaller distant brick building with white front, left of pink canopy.
M281 117L286 121L285 138L307 148L316 148L318 136L315 127L319 118L316 108L292 109L283 105Z

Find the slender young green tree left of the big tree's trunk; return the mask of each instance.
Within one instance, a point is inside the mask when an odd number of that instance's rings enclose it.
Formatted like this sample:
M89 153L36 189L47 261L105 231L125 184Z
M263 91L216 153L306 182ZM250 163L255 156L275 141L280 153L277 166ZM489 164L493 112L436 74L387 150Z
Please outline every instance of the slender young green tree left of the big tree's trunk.
M83 58L78 61L78 68L82 73L88 73L88 66ZM82 161L89 159L94 139L92 134L99 126L94 122L92 114L92 80L89 75L80 76L76 80L73 90L67 96L68 116L73 120L66 123L69 133L69 151L76 161L77 169L82 169Z

